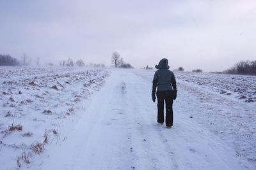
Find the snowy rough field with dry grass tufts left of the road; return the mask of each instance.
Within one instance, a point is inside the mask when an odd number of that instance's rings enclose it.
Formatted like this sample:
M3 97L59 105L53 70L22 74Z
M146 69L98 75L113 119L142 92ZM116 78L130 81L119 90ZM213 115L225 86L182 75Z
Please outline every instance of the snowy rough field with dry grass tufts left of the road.
M65 141L106 76L104 69L0 67L0 169L29 167L48 143Z

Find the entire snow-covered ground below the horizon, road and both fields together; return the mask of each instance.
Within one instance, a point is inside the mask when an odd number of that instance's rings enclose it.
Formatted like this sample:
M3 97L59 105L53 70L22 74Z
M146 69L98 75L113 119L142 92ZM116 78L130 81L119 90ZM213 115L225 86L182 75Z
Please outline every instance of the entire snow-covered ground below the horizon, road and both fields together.
M175 72L166 129L154 71L0 73L0 169L256 169L256 76Z

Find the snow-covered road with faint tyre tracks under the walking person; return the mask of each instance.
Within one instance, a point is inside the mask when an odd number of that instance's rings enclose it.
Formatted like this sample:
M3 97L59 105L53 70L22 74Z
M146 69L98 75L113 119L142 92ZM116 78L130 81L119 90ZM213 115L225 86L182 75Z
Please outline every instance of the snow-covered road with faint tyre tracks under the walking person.
M188 117L200 100L178 84L172 129L156 122L153 72L113 70L67 139L31 169L253 169L231 145ZM178 80L179 82L179 80ZM204 97L204 96L203 96ZM191 103L189 103L191 101ZM216 100L218 103L218 100ZM220 103L219 103L220 104ZM194 111L192 111L195 109ZM184 113L186 111L186 113Z

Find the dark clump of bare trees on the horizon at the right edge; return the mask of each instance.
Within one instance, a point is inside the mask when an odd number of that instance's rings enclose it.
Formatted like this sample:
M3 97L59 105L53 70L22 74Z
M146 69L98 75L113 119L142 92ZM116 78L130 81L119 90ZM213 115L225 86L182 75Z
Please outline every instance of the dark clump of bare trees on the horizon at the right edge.
M235 66L231 67L223 71L224 74L248 74L248 75L256 75L256 60L250 61L240 61L235 64Z

